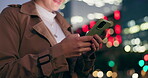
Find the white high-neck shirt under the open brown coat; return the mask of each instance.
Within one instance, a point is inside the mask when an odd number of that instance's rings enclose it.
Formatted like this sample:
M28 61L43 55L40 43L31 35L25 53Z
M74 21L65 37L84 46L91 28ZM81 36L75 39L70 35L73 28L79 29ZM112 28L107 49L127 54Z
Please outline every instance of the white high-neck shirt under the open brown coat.
M57 43L61 42L65 38L61 27L55 20L56 13L49 12L48 10L42 8L40 5L35 4L37 12L39 13L40 18L43 20L44 24L50 30Z

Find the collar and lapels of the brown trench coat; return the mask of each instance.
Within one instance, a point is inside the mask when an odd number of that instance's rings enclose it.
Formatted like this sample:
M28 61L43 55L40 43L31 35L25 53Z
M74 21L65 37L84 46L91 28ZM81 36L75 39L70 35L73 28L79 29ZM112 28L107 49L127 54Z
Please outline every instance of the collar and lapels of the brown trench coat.
M35 3L33 0L22 4L20 12L30 16L36 16L36 17L38 17L39 15L37 13ZM55 18L59 26L61 27L61 29L63 30L66 36L69 35L70 32L68 31L68 28L70 27L70 25L67 23L67 21L63 18L63 16L59 12L56 12L56 14L57 15ZM36 18L36 19L40 19L40 18ZM33 26L33 29L36 30L42 36L44 36L51 43L52 46L56 44L55 38L53 37L50 30L45 26L45 24L41 19Z

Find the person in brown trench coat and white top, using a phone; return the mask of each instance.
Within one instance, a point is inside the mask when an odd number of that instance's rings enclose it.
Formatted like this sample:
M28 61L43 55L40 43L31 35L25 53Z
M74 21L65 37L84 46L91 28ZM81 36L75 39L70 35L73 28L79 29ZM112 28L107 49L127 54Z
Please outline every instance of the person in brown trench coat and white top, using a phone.
M58 12L64 0L31 0L0 14L0 78L87 78L98 35L79 36Z

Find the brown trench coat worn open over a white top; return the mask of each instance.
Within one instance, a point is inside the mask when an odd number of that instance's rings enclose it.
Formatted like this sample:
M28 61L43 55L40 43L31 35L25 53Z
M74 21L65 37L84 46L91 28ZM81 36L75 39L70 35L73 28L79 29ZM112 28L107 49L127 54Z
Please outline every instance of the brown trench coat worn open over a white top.
M62 31L70 35L70 25L56 14ZM95 55L66 59L60 50L51 50L57 42L33 1L2 11L0 37L0 78L87 78L93 69Z

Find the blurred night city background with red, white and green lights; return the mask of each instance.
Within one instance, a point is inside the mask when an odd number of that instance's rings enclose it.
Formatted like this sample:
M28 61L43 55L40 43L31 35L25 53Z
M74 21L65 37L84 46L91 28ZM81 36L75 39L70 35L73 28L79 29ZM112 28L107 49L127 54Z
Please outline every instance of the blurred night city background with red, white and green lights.
M1 0L8 4L29 0ZM148 0L66 0L59 11L84 36L97 19L113 22L89 78L148 78Z

